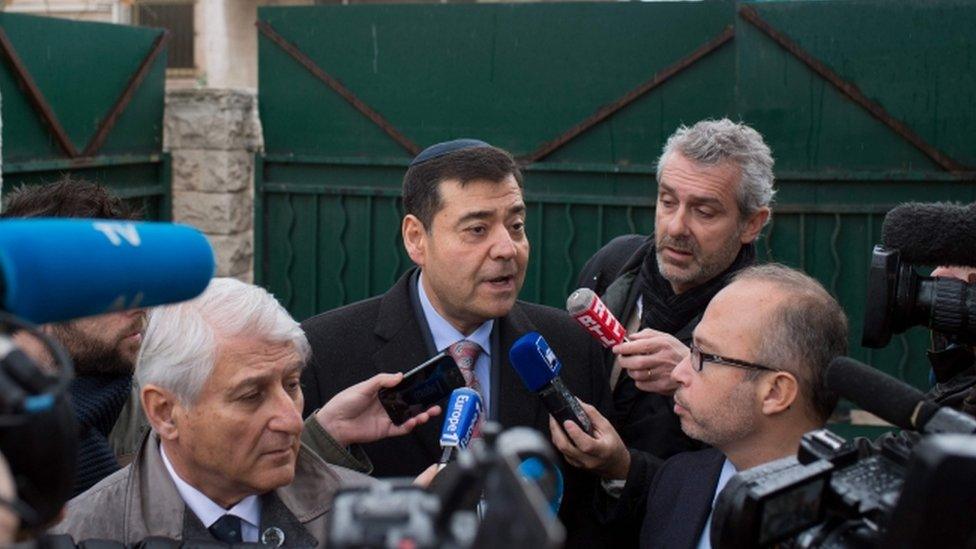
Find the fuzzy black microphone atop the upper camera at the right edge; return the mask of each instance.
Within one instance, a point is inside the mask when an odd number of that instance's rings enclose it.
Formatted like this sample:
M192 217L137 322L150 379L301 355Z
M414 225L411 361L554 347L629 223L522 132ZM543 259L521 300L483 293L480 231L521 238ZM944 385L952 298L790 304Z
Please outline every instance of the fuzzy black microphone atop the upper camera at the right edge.
M892 208L881 242L919 265L976 266L976 203L908 202Z

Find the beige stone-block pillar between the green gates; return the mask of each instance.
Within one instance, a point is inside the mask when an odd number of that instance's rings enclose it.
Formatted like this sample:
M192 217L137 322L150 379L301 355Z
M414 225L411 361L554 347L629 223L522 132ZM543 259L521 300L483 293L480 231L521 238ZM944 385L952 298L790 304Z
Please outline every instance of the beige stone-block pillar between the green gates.
M217 275L254 276L257 97L237 89L166 92L164 149L173 157L173 220L210 239Z

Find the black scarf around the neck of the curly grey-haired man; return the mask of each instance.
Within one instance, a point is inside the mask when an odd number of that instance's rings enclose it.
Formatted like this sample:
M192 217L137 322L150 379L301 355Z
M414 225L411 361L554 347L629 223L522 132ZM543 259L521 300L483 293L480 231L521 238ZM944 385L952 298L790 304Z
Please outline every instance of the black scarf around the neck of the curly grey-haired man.
M728 284L733 274L752 265L755 260L755 246L746 244L739 250L732 264L718 276L686 292L675 294L671 283L658 270L657 253L654 246L651 246L644 256L640 270L640 293L644 307L641 328L677 333L705 310L708 302Z

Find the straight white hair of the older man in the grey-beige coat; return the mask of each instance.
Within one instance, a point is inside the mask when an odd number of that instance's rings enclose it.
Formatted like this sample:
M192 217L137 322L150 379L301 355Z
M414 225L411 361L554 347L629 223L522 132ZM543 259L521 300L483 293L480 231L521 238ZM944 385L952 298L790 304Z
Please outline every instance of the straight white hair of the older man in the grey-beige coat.
M299 324L264 288L214 278L200 296L149 313L136 381L171 391L192 406L217 362L218 344L238 337L290 342L304 361L311 355Z

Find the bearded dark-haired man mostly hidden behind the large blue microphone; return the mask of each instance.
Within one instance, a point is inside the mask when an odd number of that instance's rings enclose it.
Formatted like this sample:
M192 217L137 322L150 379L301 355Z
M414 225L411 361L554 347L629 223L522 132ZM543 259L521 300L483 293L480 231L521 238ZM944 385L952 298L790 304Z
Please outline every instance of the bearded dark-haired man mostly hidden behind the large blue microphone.
M140 216L105 187L64 177L56 183L13 190L0 217L137 220ZM120 459L127 463L148 431L138 399L129 398L145 322L145 310L134 309L42 326L64 345L75 366L69 387L79 424L73 495L125 465ZM46 348L29 336L18 334L15 341L35 360L53 361Z

